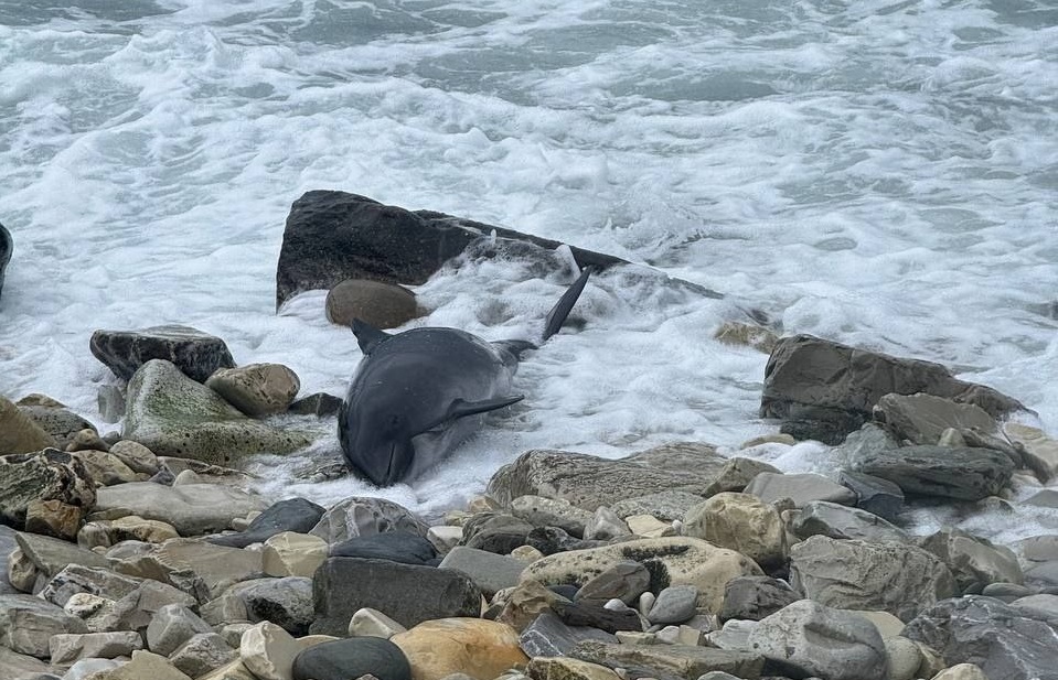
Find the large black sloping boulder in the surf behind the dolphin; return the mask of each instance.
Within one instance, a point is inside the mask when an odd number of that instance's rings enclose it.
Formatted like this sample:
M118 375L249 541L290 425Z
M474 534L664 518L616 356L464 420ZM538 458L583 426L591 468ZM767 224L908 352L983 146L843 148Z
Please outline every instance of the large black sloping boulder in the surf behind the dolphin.
M276 309L298 293L330 290L346 279L419 285L475 239L501 239L547 249L558 241L435 213L383 205L366 196L311 191L287 216L276 270ZM580 267L608 268L624 260L570 248Z

